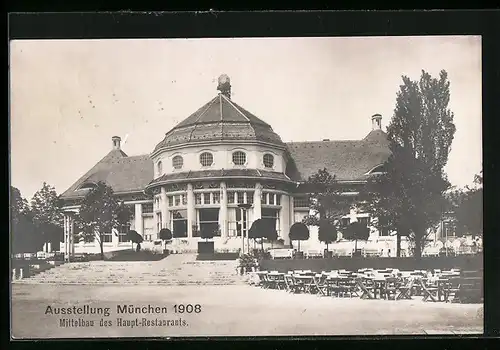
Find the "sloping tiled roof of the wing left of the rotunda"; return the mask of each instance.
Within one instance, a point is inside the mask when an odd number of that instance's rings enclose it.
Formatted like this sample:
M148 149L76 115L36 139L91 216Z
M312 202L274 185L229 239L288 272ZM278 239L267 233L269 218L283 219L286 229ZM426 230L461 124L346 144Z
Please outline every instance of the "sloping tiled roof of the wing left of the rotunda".
M115 192L142 191L153 179L153 162L149 155L128 157L123 151L113 150L62 194L62 198L80 197L86 191L79 189L86 183L104 181Z

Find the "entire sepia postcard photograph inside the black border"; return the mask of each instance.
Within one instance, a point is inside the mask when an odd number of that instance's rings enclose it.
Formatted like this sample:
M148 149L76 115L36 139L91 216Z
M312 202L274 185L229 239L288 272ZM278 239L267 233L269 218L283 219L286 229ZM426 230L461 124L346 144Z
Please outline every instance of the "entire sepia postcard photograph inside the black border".
M483 334L480 36L9 50L12 339Z

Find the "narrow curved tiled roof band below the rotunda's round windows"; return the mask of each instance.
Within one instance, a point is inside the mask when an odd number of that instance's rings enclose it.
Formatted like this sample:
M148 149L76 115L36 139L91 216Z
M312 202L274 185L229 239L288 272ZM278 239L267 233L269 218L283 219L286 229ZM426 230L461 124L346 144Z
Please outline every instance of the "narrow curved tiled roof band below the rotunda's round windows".
M206 179L206 178L261 178L270 180L290 181L283 173L274 171L262 171L256 169L220 169L220 170L200 170L186 171L182 173L165 174L150 182L148 187L157 183L169 183L182 180Z

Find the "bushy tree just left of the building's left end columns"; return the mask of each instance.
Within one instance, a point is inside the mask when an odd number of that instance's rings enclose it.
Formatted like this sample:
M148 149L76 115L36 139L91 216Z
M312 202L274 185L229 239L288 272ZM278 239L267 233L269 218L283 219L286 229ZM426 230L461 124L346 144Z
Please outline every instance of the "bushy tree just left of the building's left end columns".
M42 245L61 241L64 220L61 204L55 188L45 182L31 199L33 224Z

